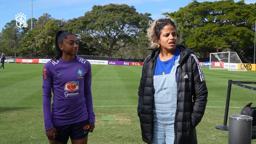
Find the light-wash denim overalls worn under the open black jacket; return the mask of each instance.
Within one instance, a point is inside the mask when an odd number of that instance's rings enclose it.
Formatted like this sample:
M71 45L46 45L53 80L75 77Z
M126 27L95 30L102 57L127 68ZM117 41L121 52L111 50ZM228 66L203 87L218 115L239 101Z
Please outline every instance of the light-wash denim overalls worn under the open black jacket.
M176 70L180 56L170 74L154 76L154 134L152 144L174 144L174 120L177 108Z

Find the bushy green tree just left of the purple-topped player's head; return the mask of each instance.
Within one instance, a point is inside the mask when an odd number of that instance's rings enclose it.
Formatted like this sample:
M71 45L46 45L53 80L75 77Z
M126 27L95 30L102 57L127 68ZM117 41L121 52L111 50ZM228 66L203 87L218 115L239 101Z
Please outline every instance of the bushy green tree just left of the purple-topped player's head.
M50 14L43 14L38 20L33 19L33 30L31 31L31 19L27 28L22 31L22 44L18 49L21 56L43 56L55 54L55 34L67 22L57 20Z

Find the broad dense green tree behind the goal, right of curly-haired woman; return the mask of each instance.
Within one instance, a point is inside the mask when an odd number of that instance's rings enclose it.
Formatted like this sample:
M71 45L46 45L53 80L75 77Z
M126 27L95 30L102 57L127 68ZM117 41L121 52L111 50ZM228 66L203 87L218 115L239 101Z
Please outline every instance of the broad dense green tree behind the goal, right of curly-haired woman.
M252 58L256 5L245 4L244 0L193 0L168 15L177 22L182 44L203 53L203 57L210 52L236 51L239 56Z

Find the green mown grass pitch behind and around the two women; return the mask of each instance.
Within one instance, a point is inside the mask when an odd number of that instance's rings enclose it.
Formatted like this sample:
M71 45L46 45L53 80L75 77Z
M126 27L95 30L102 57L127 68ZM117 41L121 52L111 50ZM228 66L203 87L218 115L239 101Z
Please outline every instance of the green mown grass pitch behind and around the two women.
M0 69L0 144L48 143L42 110L43 66L9 63ZM215 128L223 124L228 80L255 82L256 72L209 67L203 71L209 94L205 115L196 127L198 144L228 144L228 131ZM141 66L92 65L96 123L89 144L144 144L137 116L140 73ZM256 106L256 91L232 85L228 115L240 114L249 102Z

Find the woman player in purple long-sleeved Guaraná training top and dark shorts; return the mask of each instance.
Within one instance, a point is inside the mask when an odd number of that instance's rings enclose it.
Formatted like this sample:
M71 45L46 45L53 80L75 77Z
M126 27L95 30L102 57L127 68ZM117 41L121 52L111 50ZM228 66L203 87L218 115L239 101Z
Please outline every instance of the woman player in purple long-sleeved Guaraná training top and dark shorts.
M91 64L76 56L78 40L70 32L58 31L55 47L57 56L42 74L46 136L50 144L66 144L69 137L72 144L87 144L95 123Z

